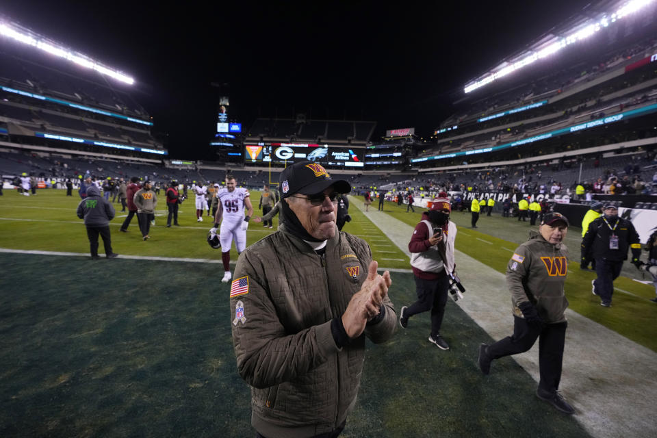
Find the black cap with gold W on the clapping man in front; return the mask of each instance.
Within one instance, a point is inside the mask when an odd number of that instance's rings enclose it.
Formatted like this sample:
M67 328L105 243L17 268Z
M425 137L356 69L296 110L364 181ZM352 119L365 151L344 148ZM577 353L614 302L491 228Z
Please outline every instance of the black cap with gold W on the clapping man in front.
M333 186L338 193L351 192L351 185L344 179L333 179L321 164L305 161L287 166L279 178L281 198L292 194L316 194Z

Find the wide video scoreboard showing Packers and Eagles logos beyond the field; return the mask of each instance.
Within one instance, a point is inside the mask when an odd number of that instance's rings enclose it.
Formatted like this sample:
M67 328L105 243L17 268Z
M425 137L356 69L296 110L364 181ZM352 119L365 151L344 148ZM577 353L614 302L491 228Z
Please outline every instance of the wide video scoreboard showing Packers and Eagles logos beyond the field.
M343 146L306 143L258 143L244 146L244 160L251 163L295 163L310 160L327 166L363 167L363 152Z

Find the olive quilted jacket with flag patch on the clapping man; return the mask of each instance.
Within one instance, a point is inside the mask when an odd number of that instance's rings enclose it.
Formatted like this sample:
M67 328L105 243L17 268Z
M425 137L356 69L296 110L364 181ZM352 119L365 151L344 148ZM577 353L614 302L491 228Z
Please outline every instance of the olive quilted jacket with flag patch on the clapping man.
M337 348L331 334L331 320L361 289L371 260L367 242L337 227L320 256L285 225L240 255L231 283L233 344L237 370L251 386L251 422L262 435L327 433L352 411L365 335L385 342L396 328L386 297L383 320L348 346Z

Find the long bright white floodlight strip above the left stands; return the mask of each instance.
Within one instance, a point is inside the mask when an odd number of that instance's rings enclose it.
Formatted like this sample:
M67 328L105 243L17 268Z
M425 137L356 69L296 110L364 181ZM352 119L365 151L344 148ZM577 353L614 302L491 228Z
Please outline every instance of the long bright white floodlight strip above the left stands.
M129 85L135 83L135 79L132 77L129 77L118 70L114 70L113 68L104 66L100 62L92 60L90 57L83 55L82 53L71 51L70 49L63 47L61 44L57 44L56 42L53 42L44 36L40 36L29 29L25 29L16 23L0 22L0 35L36 47L36 49L40 49L51 55L74 62L79 66L96 70L101 75L112 77Z

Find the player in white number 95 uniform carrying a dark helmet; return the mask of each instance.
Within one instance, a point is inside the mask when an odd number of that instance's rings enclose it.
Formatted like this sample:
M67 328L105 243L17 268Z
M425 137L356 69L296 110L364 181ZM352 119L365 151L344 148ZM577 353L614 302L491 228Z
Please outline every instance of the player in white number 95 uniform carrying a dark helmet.
M246 248L246 229L248 221L253 215L253 206L248 190L237 188L235 177L227 175L226 188L219 189L215 195L219 198L217 214L214 218L214 230L219 227L219 241L221 243L221 261L224 263L224 277L222 283L231 281L231 245L235 241L237 253ZM246 215L245 210L246 209Z

